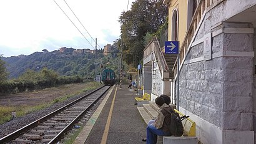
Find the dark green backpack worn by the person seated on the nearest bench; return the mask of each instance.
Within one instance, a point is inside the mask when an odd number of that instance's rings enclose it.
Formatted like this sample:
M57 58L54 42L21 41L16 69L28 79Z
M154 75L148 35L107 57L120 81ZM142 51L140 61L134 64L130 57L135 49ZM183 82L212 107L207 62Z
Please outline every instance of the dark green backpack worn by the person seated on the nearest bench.
M163 108L166 112L170 113L170 124L168 125L170 134L174 135L176 137L180 137L183 135L184 128L182 125L182 120L185 118L188 118L189 116L184 115L183 117L180 118L179 113L176 113L174 109L172 108L171 110L167 110L166 108Z

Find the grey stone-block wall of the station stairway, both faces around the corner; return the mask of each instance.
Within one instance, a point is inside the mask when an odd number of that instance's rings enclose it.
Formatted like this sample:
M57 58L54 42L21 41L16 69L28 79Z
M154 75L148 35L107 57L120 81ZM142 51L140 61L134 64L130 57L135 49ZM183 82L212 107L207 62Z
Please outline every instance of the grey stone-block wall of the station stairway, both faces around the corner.
M230 143L241 135L252 140L246 133L256 128L256 93L253 94L256 77L253 79L254 56L251 54L256 38L255 34L242 31L252 28L250 23L222 22L230 15L226 12L230 6L226 4L224 1L205 15L195 37L195 41L200 41L209 32L215 32L212 59L204 60L202 42L190 49L180 71L180 107L200 119L197 133L205 143L215 143L206 134L210 132L204 132L213 128L212 124L215 133L223 138L216 137L220 143ZM233 132L236 134L227 137L226 133Z

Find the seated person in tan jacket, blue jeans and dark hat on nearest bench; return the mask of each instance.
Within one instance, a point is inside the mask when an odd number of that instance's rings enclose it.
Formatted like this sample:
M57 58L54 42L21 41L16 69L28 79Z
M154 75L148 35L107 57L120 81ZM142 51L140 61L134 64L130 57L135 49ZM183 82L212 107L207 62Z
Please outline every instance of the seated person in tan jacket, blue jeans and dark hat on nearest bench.
M162 97L155 98L155 103L159 107L159 112L155 122L147 125L147 144L157 143L157 135L170 136L169 126L167 125L167 123L170 123L170 114L163 108L171 110L171 107L164 102Z

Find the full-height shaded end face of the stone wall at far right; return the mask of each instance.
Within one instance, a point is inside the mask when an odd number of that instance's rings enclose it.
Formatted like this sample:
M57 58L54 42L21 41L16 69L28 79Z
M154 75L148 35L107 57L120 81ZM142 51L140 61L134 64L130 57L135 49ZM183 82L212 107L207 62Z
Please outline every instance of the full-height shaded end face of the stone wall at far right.
M224 22L222 112L224 143L252 140L253 34L250 24ZM243 137L242 139L240 139ZM248 141L251 142L251 141Z

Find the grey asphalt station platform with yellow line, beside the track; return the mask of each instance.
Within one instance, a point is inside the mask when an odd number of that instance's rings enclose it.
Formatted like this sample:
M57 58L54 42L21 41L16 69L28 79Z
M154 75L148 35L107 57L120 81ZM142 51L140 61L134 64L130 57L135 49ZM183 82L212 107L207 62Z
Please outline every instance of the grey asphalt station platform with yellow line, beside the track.
M127 87L111 87L74 143L145 143L147 124L134 105L137 91Z

